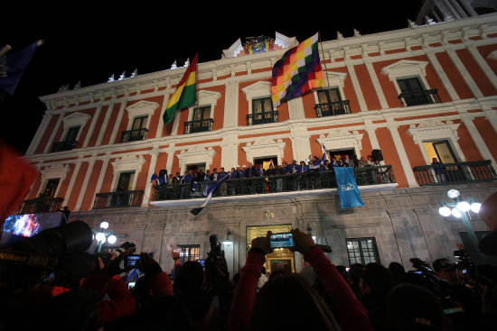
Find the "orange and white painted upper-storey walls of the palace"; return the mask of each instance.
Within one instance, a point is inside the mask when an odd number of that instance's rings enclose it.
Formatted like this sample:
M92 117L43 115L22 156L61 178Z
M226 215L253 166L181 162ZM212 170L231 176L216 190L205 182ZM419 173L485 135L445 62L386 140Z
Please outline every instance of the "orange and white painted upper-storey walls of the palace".
M47 110L26 152L40 176L27 199L38 197L49 179L60 179L54 197L64 199L71 215L84 214L96 194L117 190L120 173L134 171L127 189L144 190L141 207L153 211L150 179L159 170L183 174L192 164L230 170L268 156L304 161L321 155L322 144L328 151L352 150L358 159L380 150L399 192L419 187L413 169L431 164L427 142L446 142L455 161L488 160L497 169L497 14L347 38L338 33L320 43L320 56L327 86L349 100L350 114L318 117L314 91L282 103L277 122L248 125L253 100L270 97L274 63L298 44L279 33L274 40L272 51L253 54L237 41L209 62L199 50L198 106L210 107L207 132L184 133L195 105L170 124L162 120L186 67L41 97ZM402 79L409 78L436 89L440 101L403 104ZM137 118L145 139L121 143ZM80 128L74 147L52 152L74 127Z

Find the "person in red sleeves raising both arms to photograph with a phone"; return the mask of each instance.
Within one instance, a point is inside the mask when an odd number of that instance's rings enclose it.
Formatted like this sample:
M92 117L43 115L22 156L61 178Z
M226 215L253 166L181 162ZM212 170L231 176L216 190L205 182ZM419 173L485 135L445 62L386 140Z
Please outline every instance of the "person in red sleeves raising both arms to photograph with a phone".
M265 254L272 251L271 232L266 237L252 240L247 262L241 269L228 321L229 330L243 330L247 326L261 329L315 329L315 330L372 330L370 320L342 275L323 251L314 244L310 234L298 229L291 231L295 250L304 255L314 269L324 290L330 297L332 311L314 289L298 274L274 272L266 285L256 290ZM254 305L254 301L256 304ZM252 311L253 310L253 311ZM305 316L305 318L281 318ZM340 326L339 326L340 325Z

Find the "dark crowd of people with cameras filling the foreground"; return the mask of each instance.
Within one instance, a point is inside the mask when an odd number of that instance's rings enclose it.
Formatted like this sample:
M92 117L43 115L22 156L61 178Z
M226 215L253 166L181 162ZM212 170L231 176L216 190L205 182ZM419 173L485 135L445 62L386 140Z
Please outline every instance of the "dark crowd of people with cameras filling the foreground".
M135 253L130 243L111 253L73 253L33 283L3 277L0 329L497 329L495 267L412 259L414 271L397 262L346 268L334 265L310 234L291 232L293 250L305 261L299 272L266 273L270 232L251 242L245 265L234 275L215 241L204 265L182 263L172 251L169 273L148 253L127 267ZM133 268L143 276L131 287L125 276ZM37 272L24 267L22 274Z

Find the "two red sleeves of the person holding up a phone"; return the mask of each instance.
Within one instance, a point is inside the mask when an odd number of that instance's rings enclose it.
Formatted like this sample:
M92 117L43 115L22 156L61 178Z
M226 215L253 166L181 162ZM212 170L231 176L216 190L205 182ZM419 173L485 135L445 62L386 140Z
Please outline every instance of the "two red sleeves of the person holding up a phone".
M356 298L351 287L343 280L321 249L314 247L305 253L305 260L314 268L324 290L330 295L333 308L340 318L342 330L373 331L370 319L361 301ZM231 304L228 330L244 330L249 322L256 297L258 278L265 258L260 253L249 252L247 262L241 269L237 290Z

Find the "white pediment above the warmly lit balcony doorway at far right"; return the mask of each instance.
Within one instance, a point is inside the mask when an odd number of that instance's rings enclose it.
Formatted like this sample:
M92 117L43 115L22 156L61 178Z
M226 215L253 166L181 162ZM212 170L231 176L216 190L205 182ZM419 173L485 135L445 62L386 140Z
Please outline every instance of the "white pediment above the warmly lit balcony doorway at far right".
M414 143L417 144L434 139L454 138L455 140L459 140L459 135L457 134L458 127L459 124L454 124L452 121L444 123L436 119L427 119L417 125L410 124L408 134L412 136Z

